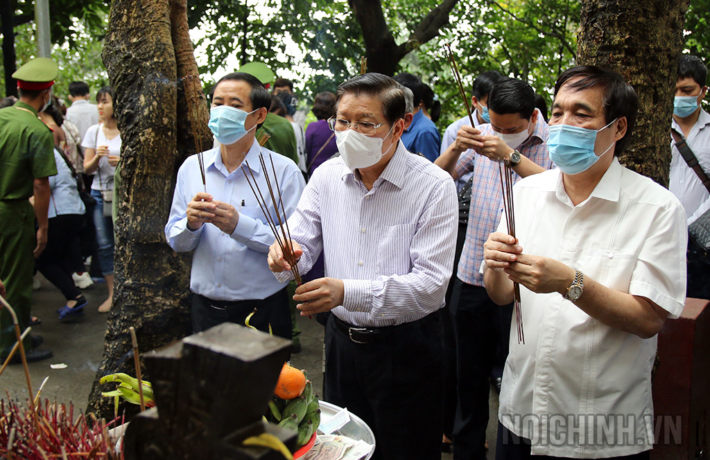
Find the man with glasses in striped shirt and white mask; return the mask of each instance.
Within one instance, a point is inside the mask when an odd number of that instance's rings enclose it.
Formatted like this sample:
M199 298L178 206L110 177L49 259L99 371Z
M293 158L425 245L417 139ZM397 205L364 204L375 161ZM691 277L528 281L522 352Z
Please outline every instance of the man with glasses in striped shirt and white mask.
M289 219L300 273L321 251L327 278L296 290L302 315L326 326L329 402L375 432L373 459L440 459L442 323L456 241L456 187L400 142L405 97L366 74L338 88L329 120L340 152L308 182ZM292 278L278 244L268 263Z

